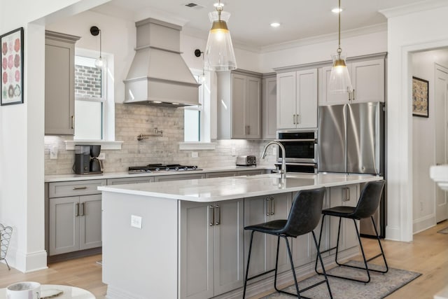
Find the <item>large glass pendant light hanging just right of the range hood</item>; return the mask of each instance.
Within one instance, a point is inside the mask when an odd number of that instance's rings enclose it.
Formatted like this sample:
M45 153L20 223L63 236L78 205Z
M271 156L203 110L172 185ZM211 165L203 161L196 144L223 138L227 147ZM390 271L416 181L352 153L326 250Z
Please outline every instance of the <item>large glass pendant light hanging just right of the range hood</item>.
M226 22L230 18L230 13L223 11L221 0L216 5L216 11L209 13L209 18L212 25L205 48L205 69L209 71L237 69L232 38Z

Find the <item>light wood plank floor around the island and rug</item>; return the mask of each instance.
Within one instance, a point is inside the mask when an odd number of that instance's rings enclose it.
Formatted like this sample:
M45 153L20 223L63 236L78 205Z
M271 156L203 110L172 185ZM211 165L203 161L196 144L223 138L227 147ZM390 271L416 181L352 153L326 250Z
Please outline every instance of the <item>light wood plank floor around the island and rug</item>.
M413 242L383 240L390 267L421 273L421 277L388 296L388 299L432 299L433 295L448 285L448 235L437 233L448 226L448 221L414 235ZM374 240L364 239L367 252L374 252ZM368 253L367 253L368 254ZM90 256L48 265L48 269L23 274L0 264L0 288L16 281L38 281L41 284L65 284L85 288L105 298L106 285L102 283L102 267L96 262L102 256Z

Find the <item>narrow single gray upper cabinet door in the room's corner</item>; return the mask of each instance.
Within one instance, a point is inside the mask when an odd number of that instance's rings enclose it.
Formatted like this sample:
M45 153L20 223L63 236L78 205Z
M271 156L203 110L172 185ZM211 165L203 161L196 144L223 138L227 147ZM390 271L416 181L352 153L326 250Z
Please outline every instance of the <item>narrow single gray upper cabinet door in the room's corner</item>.
M262 139L276 139L277 79L276 74L262 78Z

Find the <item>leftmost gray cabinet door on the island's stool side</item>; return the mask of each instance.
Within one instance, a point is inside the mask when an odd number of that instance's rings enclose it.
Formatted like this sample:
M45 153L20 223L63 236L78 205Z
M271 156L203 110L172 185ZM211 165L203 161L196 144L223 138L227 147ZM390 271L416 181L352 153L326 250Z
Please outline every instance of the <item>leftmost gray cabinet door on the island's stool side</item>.
M181 202L181 298L214 296L214 204Z

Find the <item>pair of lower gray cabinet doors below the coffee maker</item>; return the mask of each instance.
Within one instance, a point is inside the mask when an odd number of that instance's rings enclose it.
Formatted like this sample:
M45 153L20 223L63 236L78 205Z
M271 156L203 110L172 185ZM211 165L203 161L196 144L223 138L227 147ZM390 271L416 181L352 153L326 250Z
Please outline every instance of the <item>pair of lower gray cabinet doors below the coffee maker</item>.
M50 198L50 256L102 246L101 195Z

